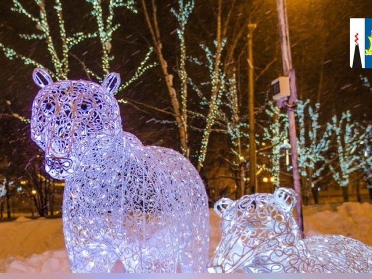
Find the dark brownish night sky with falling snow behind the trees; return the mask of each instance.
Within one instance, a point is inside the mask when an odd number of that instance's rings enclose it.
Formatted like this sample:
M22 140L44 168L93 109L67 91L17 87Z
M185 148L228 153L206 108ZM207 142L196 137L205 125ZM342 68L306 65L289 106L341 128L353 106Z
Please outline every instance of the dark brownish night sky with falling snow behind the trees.
M24 40L18 33L31 33L35 30L34 22L24 15L10 10L11 0L0 2L0 42L14 48L18 53L32 57L48 68L53 68L46 45L38 40ZM33 1L20 0L30 11L37 14ZM52 1L46 0L46 8L51 13ZM93 31L95 21L89 14L90 4L83 0L61 0L67 33ZM150 3L150 1L148 1ZM222 17L225 18L231 0L222 1ZM107 4L107 0L103 0ZM173 0L158 0L158 19L163 40L164 54L169 62L170 72L175 75L177 85L177 65L179 41L176 34L177 22L170 12L176 7ZM115 59L111 70L119 72L123 81L134 73L151 45L140 3L136 4L139 12L133 14L125 8L118 10L114 21L121 27L114 33L112 53ZM186 46L188 55L203 59L199 46L204 43L212 47L215 38L216 0L195 0L195 8L186 27ZM321 103L320 122L325 123L332 115L340 115L351 110L353 118L360 122L372 121L372 90L365 86L361 75L372 81L372 69L351 69L349 67L349 18L372 17L372 2L366 0L287 0L289 33L293 66L296 70L297 89L300 99L310 98L312 104ZM222 20L223 20L222 18ZM275 0L237 0L235 2L231 28L227 39L233 36L234 30L246 29L248 19L257 23L253 36L253 55L255 75L257 76L273 59L276 59L267 71L255 83L255 105L263 105L268 97L270 82L282 74L279 30ZM50 26L55 34L56 18L50 17ZM235 29L234 29L235 28ZM235 56L239 64L239 93L242 115L247 114L247 66L246 66L246 30L240 37ZM229 40L227 40L229 41ZM368 44L366 42L366 44ZM227 43L228 45L228 43ZM98 40L86 40L73 49L89 67L103 74L99 68L100 45ZM241 54L241 55L239 55ZM151 61L157 58L153 54ZM204 59L205 60L205 59ZM70 79L86 78L81 65L71 59ZM207 70L187 63L189 76L195 81L208 79ZM11 112L26 118L30 117L32 99L37 92L31 73L33 66L24 65L19 60L9 60L0 53L0 144L2 169L12 175L22 175L29 158L34 156L37 148L29 139L29 126L11 117ZM139 80L118 94L119 98L131 99L171 111L171 104L163 80L160 66L147 71ZM189 107L198 109L198 99L190 93ZM6 100L11 102L9 106ZM179 150L178 132L175 125L164 124L156 120L173 120L169 116L156 112L145 106L121 105L123 128L137 135L145 144L156 144ZM257 115L257 121L260 121ZM202 126L195 120L195 126ZM257 133L262 131L257 130ZM194 132L190 137L191 149L197 150L200 145L200 133ZM226 138L212 134L210 151L223 149ZM228 147L226 147L228 148ZM226 149L225 148L225 149ZM210 153L212 154L212 153ZM191 161L194 160L191 157ZM215 160L210 155L206 165ZM207 176L205 174L205 176Z

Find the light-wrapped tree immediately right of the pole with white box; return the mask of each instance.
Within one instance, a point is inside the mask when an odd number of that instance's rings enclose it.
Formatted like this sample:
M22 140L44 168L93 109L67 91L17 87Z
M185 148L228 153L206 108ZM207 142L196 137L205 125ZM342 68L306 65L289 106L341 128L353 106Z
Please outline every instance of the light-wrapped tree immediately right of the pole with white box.
M313 108L309 103L309 99L299 100L297 103L298 165L305 203L309 202L310 191L312 191L314 201L317 203L318 189L315 184L321 180L321 173L327 165L326 152L329 149L332 133L331 126L327 126L326 129L323 129L323 133L321 132L321 125L318 122L320 104L316 103Z

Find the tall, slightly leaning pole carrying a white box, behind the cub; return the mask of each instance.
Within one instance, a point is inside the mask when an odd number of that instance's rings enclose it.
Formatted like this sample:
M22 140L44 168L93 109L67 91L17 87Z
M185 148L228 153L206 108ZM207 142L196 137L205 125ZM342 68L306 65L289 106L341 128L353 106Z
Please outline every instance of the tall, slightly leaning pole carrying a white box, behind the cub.
M292 68L292 55L291 45L289 43L289 32L288 32L288 19L287 19L287 8L285 0L276 0L279 18L279 33L280 33L280 45L282 50L283 60L283 72L284 75L289 76L290 92L291 95L288 98L288 102L284 102L284 106L287 108L288 122L289 122L289 141L291 144L291 159L293 167L293 184L294 190L297 194L297 225L300 229L301 238L304 237L304 225L302 215L302 201L301 201L301 185L300 185L300 174L297 163L297 137L296 137L296 123L294 109L297 104L297 89L296 89L296 75L295 70ZM281 106L281 103L278 102Z

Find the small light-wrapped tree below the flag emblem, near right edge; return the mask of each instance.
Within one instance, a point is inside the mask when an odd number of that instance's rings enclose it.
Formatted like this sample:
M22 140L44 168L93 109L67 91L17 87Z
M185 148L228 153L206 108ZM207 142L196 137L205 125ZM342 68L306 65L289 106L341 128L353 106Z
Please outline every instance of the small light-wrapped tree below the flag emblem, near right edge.
M338 158L337 163L330 163L329 167L333 178L343 189L344 201L348 201L349 175L361 168L358 149L366 130L358 122L352 121L350 111L343 112L340 118L334 115L327 123L327 129L335 135L336 150L332 156Z

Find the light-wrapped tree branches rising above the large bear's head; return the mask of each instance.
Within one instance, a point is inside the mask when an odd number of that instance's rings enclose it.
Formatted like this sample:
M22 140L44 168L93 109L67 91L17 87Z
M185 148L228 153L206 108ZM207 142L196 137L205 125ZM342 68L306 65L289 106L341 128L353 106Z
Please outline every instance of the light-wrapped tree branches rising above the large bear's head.
M40 40L46 44L46 49L49 54L53 69L49 69L50 75L58 80L67 79L70 72L70 60L71 58L77 59L82 65L83 70L86 72L88 79L97 79L102 81L103 75L107 74L110 69L110 61L114 59L110 55L110 51L113 44L113 33L120 27L119 23L114 23L114 15L117 9L125 7L132 12L137 12L134 6L134 0L110 0L107 4L108 15L105 17L103 12L103 1L101 0L85 0L91 4L90 14L93 16L96 22L96 30L93 32L73 32L66 30L66 24L63 17L63 8L60 0L54 0L54 11L55 14L51 14L46 9L46 4L49 1L45 0L34 0L35 4L39 9L39 15L34 16L24 4L19 0L12 0L13 6L11 10L26 16L35 24L34 33L31 34L19 34L22 39L26 40ZM58 30L52 30L49 21L51 17L55 16L58 19ZM55 35L57 34L57 35ZM101 73L97 73L89 68L77 55L72 53L73 48L85 41L91 39L98 39L101 44ZM5 56L9 59L20 59L26 65L32 65L33 67L46 68L37 60L18 53L14 48L5 46L0 42L0 49L4 52ZM146 54L145 61L148 60L149 55L152 53L152 48ZM153 67L155 64L141 63L135 71L132 78L129 78L127 82L123 83L120 89L124 89L135 79L141 76L147 69ZM103 74L102 74L103 73Z

